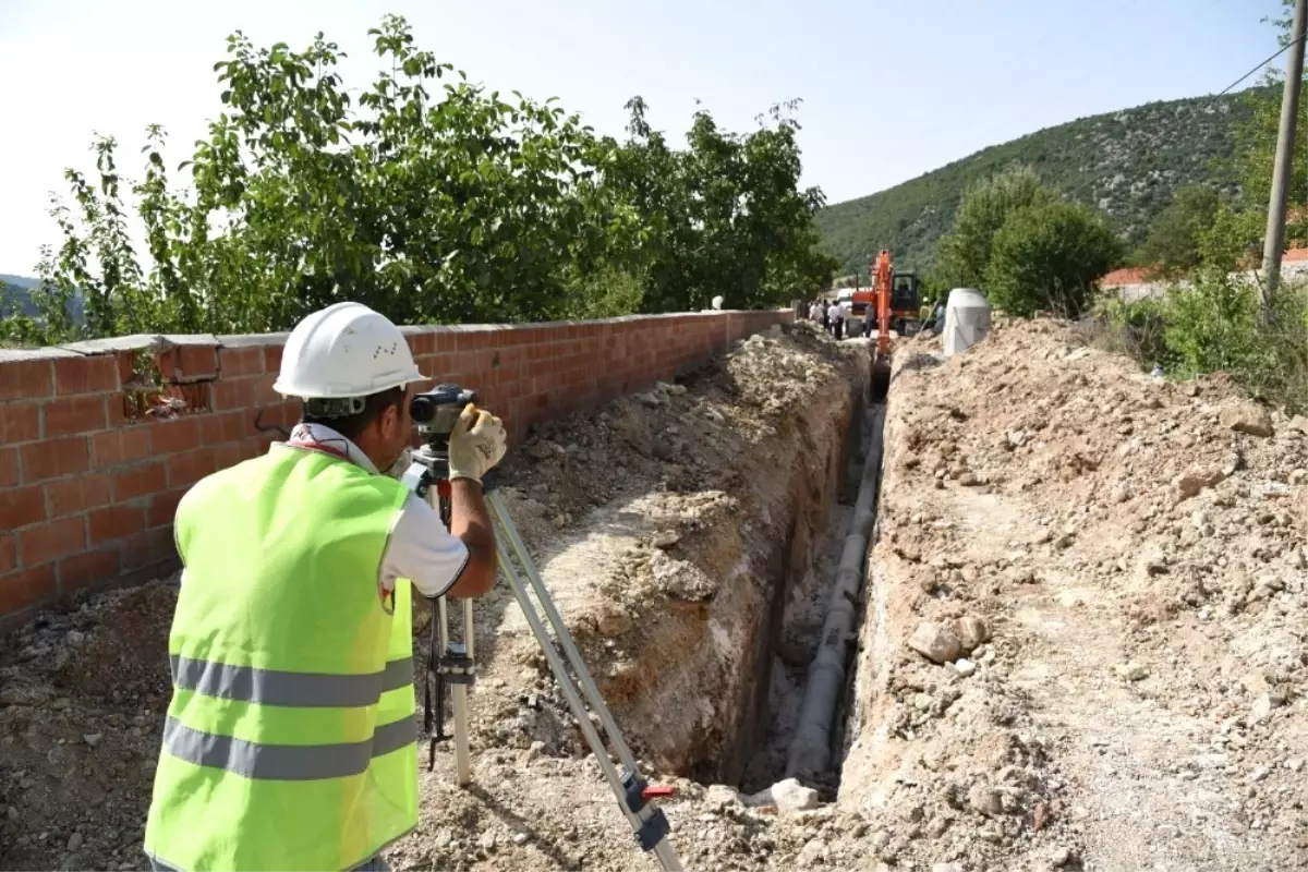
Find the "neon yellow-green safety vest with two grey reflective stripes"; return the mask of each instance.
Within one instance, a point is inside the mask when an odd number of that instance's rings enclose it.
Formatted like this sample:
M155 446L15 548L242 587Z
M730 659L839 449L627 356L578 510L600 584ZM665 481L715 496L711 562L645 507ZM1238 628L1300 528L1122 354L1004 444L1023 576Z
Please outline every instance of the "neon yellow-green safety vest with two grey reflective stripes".
M178 507L186 566L145 852L181 872L340 872L417 825L398 481L273 446Z

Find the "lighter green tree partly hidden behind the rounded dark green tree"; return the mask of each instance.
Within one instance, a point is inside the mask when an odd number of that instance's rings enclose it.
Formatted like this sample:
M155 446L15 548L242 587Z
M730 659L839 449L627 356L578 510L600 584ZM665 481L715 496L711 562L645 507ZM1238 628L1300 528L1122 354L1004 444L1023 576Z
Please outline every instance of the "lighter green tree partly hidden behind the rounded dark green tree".
M968 188L940 243L935 275L951 288L980 288L986 278L990 252L1008 217L1029 207L1048 204L1054 193L1027 166L1014 166Z

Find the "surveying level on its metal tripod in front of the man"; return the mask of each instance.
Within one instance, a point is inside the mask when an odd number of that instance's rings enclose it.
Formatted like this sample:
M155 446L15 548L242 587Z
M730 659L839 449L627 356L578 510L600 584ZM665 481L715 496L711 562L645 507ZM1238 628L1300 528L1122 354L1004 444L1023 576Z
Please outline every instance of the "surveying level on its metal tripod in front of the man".
M458 421L459 412L468 403L476 401L476 394L472 391L466 391L453 384L441 384L432 391L419 394L409 404L411 416L417 422L419 433L422 434L425 443L413 452L413 461L400 477L400 481L419 497L426 499L439 512L446 528L450 524L450 433ZM568 701L568 707L577 720L577 726L581 728L582 735L586 736L586 743L590 745L591 753L595 754L595 760L604 773L604 779L608 780L610 787L613 790L617 804L627 816L637 843L645 851L653 851L663 869L667 872L680 872L681 862L667 839L671 829L667 816L663 813L663 809L651 801L657 796L668 795L668 791L666 788L650 787L649 782L640 774L640 769L636 766L636 757L623 740L613 715L599 696L599 688L595 686L595 681L586 668L586 663L582 660L572 634L568 633L562 616L559 614L559 609L555 607L549 591L540 578L540 573L536 571L536 566L531 561L531 554L527 553L527 545L522 541L522 536L518 535L518 529L509 516L504 495L496 490L493 477L487 476L483 492L487 497L487 506L490 510L492 520L497 527L496 553L498 556L500 571L509 583L514 599L518 600L522 614L527 620L532 635L536 637L545 660L549 663L549 671L553 672L555 680L559 682L559 688ZM540 611L544 612L545 621L553 629L553 637L545 630L544 622L536 611L536 604L527 596L527 591L518 575L519 567L523 575L526 575L536 601L540 604ZM438 597L436 601L436 613L432 616L430 647L428 650L428 676L422 681L422 720L424 729L426 729L429 736L428 770L430 770L436 762L436 743L445 737L443 697L445 685L449 684L454 699L454 753L458 766L458 782L459 787L467 787L472 783L472 761L468 745L468 688L476 680L476 663L473 659L476 631L472 622L472 600L464 599L462 605L463 635L459 642L453 642L449 631L446 597ZM560 655L559 648L562 648L562 655ZM565 658L566 664L564 662ZM569 672L569 667L572 667L572 672ZM432 705L433 679L436 684L434 713ZM617 766L610 758L604 740L590 720L590 713L596 715L600 727L604 729L604 735L608 736L613 754L617 757L617 763L621 765L621 771L617 770Z

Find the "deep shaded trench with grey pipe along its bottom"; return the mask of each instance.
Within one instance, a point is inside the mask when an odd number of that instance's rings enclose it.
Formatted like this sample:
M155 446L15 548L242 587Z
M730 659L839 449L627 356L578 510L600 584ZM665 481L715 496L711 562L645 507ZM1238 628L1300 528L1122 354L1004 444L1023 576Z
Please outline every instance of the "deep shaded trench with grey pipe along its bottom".
M678 663L680 673L651 681L645 696L619 705L630 724L625 728L664 771L743 792L797 777L835 796L886 412L876 374L869 369L859 380L842 433L786 446L797 456L789 463L782 456L789 475L773 488L786 505L765 501L738 529L689 544L688 550L698 545L692 562L730 563L730 577L691 642L696 652ZM814 681L825 690L815 690ZM795 745L804 745L797 743L800 727L808 746L797 758Z

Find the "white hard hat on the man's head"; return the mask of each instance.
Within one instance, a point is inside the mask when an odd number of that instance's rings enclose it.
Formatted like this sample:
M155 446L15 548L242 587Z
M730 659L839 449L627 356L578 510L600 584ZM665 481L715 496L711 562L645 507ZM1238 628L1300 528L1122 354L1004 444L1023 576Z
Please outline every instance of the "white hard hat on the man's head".
M362 303L336 303L290 331L272 390L302 399L344 399L426 380L388 318Z

